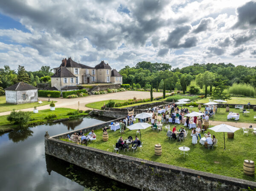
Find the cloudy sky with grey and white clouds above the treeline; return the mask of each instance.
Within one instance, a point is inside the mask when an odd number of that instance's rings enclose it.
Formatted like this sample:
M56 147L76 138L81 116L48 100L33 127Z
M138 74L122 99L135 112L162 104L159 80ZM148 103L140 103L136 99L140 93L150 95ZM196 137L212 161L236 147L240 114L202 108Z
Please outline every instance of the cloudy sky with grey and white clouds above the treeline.
M0 0L0 67L256 65L256 0Z

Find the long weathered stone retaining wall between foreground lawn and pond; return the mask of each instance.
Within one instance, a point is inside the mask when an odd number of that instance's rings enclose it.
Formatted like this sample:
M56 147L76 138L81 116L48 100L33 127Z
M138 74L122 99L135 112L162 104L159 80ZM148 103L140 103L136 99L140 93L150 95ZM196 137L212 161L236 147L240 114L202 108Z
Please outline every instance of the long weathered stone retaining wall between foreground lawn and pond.
M45 153L144 191L240 191L256 182L142 160L61 141L45 139ZM154 149L154 147L152 147Z

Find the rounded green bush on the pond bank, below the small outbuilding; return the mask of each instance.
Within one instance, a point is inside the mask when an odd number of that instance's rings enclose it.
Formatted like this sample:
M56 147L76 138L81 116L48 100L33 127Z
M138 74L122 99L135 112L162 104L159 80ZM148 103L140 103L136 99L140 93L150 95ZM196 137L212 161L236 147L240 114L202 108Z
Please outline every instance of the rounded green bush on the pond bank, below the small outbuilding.
M29 122L30 114L29 111L15 111L15 109L13 109L11 114L7 116L7 120L11 123L23 126Z

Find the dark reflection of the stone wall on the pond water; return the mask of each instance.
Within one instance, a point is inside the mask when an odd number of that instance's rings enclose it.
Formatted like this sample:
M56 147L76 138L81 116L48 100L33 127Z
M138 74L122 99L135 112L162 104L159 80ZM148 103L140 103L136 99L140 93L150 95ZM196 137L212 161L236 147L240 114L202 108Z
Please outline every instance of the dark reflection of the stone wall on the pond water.
M103 177L92 171L88 171L79 166L65 162L58 158L46 155L46 168L49 175L52 171L61 174L68 179L83 185L88 190L97 191L139 191L139 189L130 187L125 184L118 183L110 178ZM86 189L86 190L87 190Z

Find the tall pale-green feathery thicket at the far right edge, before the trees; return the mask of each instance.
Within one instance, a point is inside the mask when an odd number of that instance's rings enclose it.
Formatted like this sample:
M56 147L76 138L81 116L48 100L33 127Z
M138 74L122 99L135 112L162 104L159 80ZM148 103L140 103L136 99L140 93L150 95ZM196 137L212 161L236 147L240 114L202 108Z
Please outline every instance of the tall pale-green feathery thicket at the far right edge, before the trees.
M229 93L233 95L244 95L248 97L254 97L255 96L255 89L253 86L249 84L237 84L233 83L233 85L229 88Z

